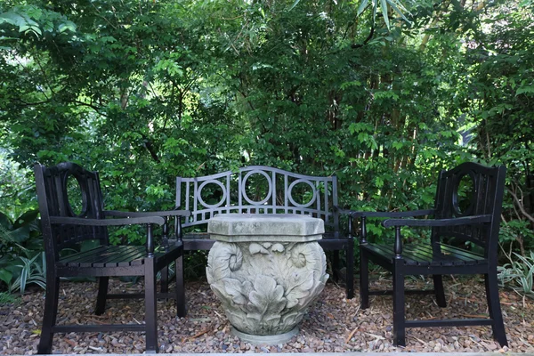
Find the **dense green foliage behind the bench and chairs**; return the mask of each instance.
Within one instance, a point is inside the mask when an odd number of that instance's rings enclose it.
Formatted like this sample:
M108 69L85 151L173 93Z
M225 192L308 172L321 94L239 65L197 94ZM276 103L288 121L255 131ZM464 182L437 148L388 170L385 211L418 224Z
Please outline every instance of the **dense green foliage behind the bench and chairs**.
M70 160L101 173L108 209L174 208L175 176L258 164L336 174L342 206L403 211L475 160L508 167L500 239L526 255L532 2L488 4L5 0L0 208L35 208L33 163Z

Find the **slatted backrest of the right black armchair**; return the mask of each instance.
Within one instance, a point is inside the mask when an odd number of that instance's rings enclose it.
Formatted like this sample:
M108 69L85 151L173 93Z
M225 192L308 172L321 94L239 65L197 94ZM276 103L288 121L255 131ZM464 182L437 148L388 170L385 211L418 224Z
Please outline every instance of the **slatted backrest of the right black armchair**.
M463 239L484 247L486 256L496 256L505 175L505 166L487 167L472 162L441 171L436 191L435 218L488 214L491 223L435 228L433 242L443 238Z

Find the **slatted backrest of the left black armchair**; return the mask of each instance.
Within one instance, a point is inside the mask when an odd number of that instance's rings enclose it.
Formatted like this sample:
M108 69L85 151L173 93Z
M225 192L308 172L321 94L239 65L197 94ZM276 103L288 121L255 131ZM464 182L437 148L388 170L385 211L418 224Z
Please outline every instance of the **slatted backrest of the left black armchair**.
M44 246L47 255L57 259L63 248L74 247L78 242L95 239L101 244L109 242L105 226L75 226L51 224L51 216L103 219L103 202L98 173L90 172L77 164L66 162L57 166L35 166L37 198L43 227ZM69 182L77 182L81 193L79 214L70 205Z

